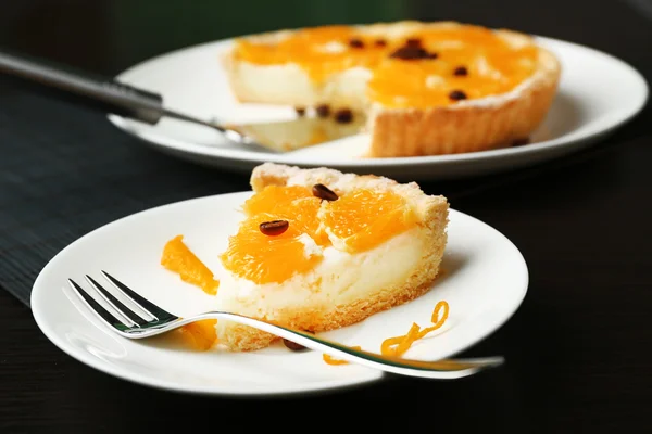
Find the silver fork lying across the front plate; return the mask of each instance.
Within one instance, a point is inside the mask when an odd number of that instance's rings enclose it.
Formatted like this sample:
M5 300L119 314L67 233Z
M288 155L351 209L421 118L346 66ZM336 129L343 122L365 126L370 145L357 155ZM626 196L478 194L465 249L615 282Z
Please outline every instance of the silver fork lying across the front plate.
M102 275L115 289L116 294L120 294L127 303L133 304L134 308L127 307L125 303L121 302L88 275L86 275L86 280L106 305L115 311L114 314L105 309L75 281L68 279L68 283L83 304L95 312L102 322L106 323L120 335L128 339L154 336L202 319L227 319L251 326L306 348L325 353L331 357L401 375L441 380L459 379L487 368L500 366L504 361L502 357L423 361L394 356L383 356L376 353L353 349L347 345L317 337L299 330L226 311L208 311L190 318L180 318L137 294L106 271L102 271Z

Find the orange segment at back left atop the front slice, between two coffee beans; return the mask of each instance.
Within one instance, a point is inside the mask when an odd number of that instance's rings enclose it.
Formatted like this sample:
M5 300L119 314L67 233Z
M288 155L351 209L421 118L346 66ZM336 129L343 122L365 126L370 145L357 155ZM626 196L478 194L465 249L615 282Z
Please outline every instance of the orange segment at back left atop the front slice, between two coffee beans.
M317 244L327 245L328 235L317 219L322 201L312 190L301 186L267 186L244 202L242 210L248 216L271 214L276 219L290 221L301 232L308 233Z

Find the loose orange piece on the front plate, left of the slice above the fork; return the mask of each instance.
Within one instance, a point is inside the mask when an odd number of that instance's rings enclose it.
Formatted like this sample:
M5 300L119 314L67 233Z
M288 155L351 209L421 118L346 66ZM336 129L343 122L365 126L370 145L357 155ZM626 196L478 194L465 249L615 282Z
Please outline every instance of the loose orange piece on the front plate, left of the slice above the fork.
M183 281L201 288L206 294L217 293L220 281L213 278L213 272L184 243L184 235L177 235L165 244L161 265L178 272Z

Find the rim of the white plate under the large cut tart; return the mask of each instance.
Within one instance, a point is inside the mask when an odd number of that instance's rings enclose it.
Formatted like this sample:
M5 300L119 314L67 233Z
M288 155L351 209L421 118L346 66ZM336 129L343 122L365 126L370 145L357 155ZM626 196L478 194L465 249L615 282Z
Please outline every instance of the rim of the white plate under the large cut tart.
M631 104L628 106L627 111L623 111L623 113L605 123L600 129L593 132L584 132L577 133L570 132L568 135L564 135L562 137L544 140L537 143L530 143L527 146L517 146L517 148L504 148L504 149L496 149L488 151L477 151L477 152L466 152L460 154L449 154L449 155L425 155L425 156L402 156L402 157L384 157L384 158L359 158L359 159L333 159L331 157L319 156L319 161L311 161L303 155L292 156L291 154L275 154L271 152L252 152L247 150L239 149L224 149L224 148L211 148L205 144L191 143L185 140L179 140L175 138L167 137L165 135L150 132L150 131L138 131L131 128L131 120L124 118L122 116L115 114L109 114L108 119L111 124L113 124L116 128L123 130L129 136L140 139L147 142L149 145L156 148L161 152L173 153L173 154L184 154L186 157L205 157L211 158L212 161L224 161L224 162L237 162L239 164L261 164L267 161L274 161L279 164L291 164L302 167L315 167L319 165L326 165L334 168L346 168L346 167L359 167L359 168L392 168L397 166L432 166L438 167L441 165L450 165L450 164L464 164L468 162L491 162L500 158L510 158L514 156L522 155L530 155L530 154L539 154L539 153L548 153L554 152L559 149L574 149L578 146L584 141L603 136L613 131L616 128L619 128L632 120L647 105L650 97L650 87L645 77L642 75L640 71L634 67L628 62L607 53L606 51L602 51L589 46L580 44L577 42L572 42L563 39L551 38L547 36L540 36L536 34L530 34L536 40L539 40L543 43L552 43L560 44L562 47L566 47L573 50L582 50L588 51L592 55L602 58L617 64L619 67L628 71L638 80L638 85L641 87L641 97L636 104ZM235 38L244 37L235 36L230 38L216 39L212 41L206 41L202 43L191 44L185 48L179 48L175 50L171 50L165 53L161 53L143 61L140 61L122 72L120 72L116 76L116 80L125 80L125 82L130 84L128 76L137 73L139 69L143 67L151 67L152 64L156 62L165 61L173 59L177 55L183 55L191 51L201 51L205 50L209 47L222 47L228 46L233 43ZM127 79L125 79L127 77ZM575 145L575 146L574 146Z

